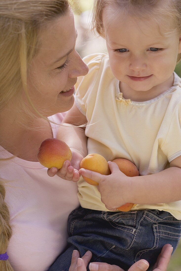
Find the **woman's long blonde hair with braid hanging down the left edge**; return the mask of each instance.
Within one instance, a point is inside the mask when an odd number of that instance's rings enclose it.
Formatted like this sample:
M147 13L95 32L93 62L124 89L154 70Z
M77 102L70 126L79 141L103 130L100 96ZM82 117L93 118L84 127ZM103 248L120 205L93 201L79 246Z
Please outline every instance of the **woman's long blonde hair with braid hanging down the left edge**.
M18 108L32 115L21 97L24 92L34 108L28 95L27 70L38 51L39 31L47 22L66 14L68 9L68 0L0 0L0 112L13 98ZM39 114L36 108L34 111ZM6 252L12 235L4 198L4 180L1 178L0 254ZM0 270L13 269L8 260L0 260Z

